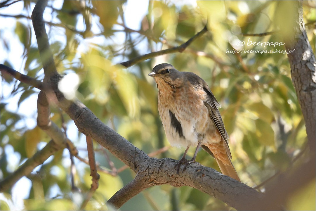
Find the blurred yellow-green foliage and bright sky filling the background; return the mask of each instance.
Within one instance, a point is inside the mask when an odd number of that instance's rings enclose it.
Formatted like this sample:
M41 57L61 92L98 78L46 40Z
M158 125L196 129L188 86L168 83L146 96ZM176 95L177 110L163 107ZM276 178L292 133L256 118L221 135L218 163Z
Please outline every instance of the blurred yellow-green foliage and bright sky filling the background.
M127 3L133 1L56 1L49 2L45 20L58 71L76 73L80 85L76 97L101 121L112 127L146 153L169 145L157 110L157 89L147 77L159 63L171 63L180 71L191 71L204 78L217 100L225 127L230 136L233 163L243 183L256 186L292 165L301 152L307 135L295 89L284 53L232 53L231 50L279 50L284 46L247 45L250 42L281 42L280 34L243 36L277 31L277 24L287 24L291 33L293 20L284 20L283 13L293 3L275 1L149 1L148 11L138 28L128 28L125 16ZM31 16L33 1L14 3L1 8L1 22L15 20L9 30L1 28L3 56L1 64L24 70L30 77L43 79L42 65L32 22L16 18L5 10L22 5L21 14ZM135 7L134 7L135 8ZM13 10L11 10L13 11ZM16 11L20 11L17 9ZM129 11L130 12L130 11ZM133 11L137 13L137 11ZM315 53L315 1L303 2L304 22L308 39ZM12 17L3 16L12 15ZM285 23L286 21L286 23ZM183 53L163 55L130 68L117 64L136 56L166 49L185 42L207 24L209 32L194 41ZM7 33L3 33L7 30ZM15 38L23 53L9 54ZM238 41L245 45L237 45ZM240 42L239 42L240 43ZM15 64L21 61L22 66ZM17 65L17 66L16 66ZM26 114L18 108L36 98L38 90L1 75L1 179L15 171L27 158L40 150L50 139L38 127L29 127ZM4 94L5 93L5 94ZM19 96L16 99L16 96ZM36 105L36 102L35 104ZM64 120L61 119L63 115ZM33 121L36 115L33 115ZM66 123L79 155L87 156L85 140L74 128L73 121L59 110L52 109L52 120L59 126ZM72 129L71 129L72 128ZM100 147L96 158L103 168L111 169ZM99 151L98 151L99 150ZM179 159L184 149L170 148L156 157ZM191 149L188 156L192 156ZM109 154L115 167L122 164ZM219 170L215 160L200 151L197 161ZM32 184L24 200L27 210L73 210L91 184L90 170L76 160L74 175L81 193L71 191L69 152L58 152L28 176ZM117 176L100 174L99 189L88 203L87 210L107 209L104 202L135 173L130 170ZM23 188L23 187L22 187ZM15 190L16 191L16 190ZM310 195L307 194L307 192ZM1 210L14 209L10 191L2 193ZM308 195L308 197L307 197ZM23 207L22 207L23 208ZM315 209L315 183L292 196L287 209ZM162 185L149 188L127 202L121 210L231 210L225 203L198 190Z

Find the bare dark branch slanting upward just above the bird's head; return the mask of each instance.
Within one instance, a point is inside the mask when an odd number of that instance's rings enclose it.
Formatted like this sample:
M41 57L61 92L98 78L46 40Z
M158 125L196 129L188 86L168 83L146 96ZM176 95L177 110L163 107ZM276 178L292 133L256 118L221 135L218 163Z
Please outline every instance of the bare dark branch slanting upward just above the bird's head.
M151 59L153 57L156 56L160 56L160 55L164 55L164 54L168 54L168 53L175 53L175 52L180 52L182 53L185 48L187 48L194 40L196 40L197 38L201 37L204 33L206 33L208 30L206 28L206 26L197 34L195 34L193 37L191 37L188 41L186 41L185 43L183 43L182 45L179 45L178 47L172 47L169 49L165 49L165 50L161 50L161 51L156 51L156 52L152 52L152 53L147 53L145 55L136 57L134 59L131 59L129 61L126 62L122 62L120 63L121 65L125 66L125 67L130 67L132 65L137 64L138 62L144 61L146 59Z

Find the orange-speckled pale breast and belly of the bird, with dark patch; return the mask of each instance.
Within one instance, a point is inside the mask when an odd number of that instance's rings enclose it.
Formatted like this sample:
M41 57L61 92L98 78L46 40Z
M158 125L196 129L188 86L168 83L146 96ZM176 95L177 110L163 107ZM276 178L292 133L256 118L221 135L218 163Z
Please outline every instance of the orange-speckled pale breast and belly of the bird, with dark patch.
M158 110L170 144L188 146L197 145L198 141L203 143L208 138L209 129L214 129L204 105L205 91L197 90L189 82L174 88L169 84L157 85Z

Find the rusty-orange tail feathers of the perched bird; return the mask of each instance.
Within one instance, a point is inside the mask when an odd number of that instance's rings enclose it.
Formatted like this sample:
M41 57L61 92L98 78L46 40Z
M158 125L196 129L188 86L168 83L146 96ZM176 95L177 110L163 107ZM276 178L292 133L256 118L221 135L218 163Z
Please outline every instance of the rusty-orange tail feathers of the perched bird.
M228 156L227 148L223 141L217 144L206 144L201 147L215 158L222 174L232 177L240 182L240 178Z

